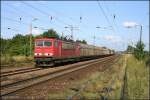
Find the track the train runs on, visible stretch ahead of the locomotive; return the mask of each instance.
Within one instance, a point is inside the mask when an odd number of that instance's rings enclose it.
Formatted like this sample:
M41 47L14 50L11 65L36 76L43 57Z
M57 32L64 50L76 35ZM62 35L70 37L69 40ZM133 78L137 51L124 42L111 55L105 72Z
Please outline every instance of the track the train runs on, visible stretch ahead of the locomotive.
M22 69L18 69L18 70L6 71L6 72L1 72L0 77L5 77L5 76L9 76L9 75L16 75L16 74L22 74L22 73L41 70L41 69L42 68L30 67L30 68L22 68Z

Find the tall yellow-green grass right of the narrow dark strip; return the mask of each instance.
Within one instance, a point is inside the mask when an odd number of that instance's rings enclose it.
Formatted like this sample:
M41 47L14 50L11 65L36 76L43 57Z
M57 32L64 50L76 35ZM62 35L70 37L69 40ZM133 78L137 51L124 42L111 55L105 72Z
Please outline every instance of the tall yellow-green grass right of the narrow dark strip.
M127 58L127 98L148 99L149 67L145 61L137 61L132 55Z

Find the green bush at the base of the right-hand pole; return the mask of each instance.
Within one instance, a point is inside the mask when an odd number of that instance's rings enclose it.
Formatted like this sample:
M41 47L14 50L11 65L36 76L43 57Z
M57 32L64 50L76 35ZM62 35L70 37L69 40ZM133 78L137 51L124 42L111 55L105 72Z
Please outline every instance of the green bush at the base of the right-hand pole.
M143 60L145 57L145 52L144 52L144 43L141 41L137 42L136 48L134 49L134 56L138 60Z

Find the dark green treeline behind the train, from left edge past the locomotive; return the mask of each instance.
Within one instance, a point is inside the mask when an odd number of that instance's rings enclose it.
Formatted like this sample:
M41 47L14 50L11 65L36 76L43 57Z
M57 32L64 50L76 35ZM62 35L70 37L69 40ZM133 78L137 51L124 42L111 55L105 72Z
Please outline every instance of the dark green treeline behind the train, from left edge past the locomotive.
M59 36L58 33L56 31L54 31L53 29L50 29L46 32L43 32L42 34L37 35L37 36L17 34L12 39L0 38L1 56L4 56L4 55L9 55L9 56L25 55L25 56L29 56L30 55L30 37L32 39L32 55L33 55L35 38L48 37L48 38L62 39L62 40L65 40L65 41L73 41L70 38L67 39L66 37ZM87 42L85 40L77 40L76 42L87 44Z

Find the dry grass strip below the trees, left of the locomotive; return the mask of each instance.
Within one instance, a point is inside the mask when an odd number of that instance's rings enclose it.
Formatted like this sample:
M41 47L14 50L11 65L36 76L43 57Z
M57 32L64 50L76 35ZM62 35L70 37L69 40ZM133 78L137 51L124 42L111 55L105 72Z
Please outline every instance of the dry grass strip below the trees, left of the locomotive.
M32 56L1 56L1 67L21 67L33 63Z

